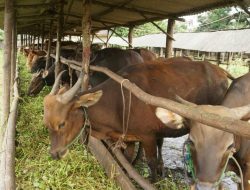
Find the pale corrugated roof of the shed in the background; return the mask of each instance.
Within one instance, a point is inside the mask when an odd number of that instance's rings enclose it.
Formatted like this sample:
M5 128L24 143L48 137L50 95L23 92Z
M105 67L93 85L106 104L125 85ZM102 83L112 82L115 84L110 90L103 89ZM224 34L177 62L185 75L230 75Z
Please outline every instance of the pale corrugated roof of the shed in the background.
M250 29L199 33L176 33L173 47L206 52L250 53ZM134 47L165 47L165 34L146 35L133 40Z

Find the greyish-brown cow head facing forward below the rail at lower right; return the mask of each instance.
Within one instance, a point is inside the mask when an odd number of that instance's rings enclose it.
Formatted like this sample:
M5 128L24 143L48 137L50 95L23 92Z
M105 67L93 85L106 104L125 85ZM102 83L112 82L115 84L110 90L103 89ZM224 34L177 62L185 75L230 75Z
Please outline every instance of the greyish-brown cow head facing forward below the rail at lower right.
M235 119L245 119L250 114L250 105L238 108L208 105L197 107L206 112ZM159 109L161 114L157 113ZM166 123L168 115L168 110L163 108L156 109L156 116L163 123ZM167 121L169 122L169 120ZM229 156L237 149L236 138L231 133L206 126L193 120L189 120L188 125L190 127L188 144L194 166L194 185L192 189L220 189L221 177L227 166Z

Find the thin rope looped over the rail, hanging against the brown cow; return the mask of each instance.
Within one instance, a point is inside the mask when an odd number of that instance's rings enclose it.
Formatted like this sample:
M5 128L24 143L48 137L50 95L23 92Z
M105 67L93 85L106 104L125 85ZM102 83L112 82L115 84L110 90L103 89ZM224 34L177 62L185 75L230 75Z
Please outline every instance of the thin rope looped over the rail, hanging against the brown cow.
M127 145L124 143L125 136L128 132L128 126L129 126L129 118L130 118L130 110L131 110L131 91L129 91L129 102L128 102L128 116L127 120L125 123L125 118L126 118L126 100L125 100L125 95L124 95L124 90L123 90L123 83L125 81L129 81L128 79L123 79L121 81L121 94L122 94L122 103L123 103L123 112L122 112L122 135L119 137L118 141L115 143L116 148L122 147L125 149Z

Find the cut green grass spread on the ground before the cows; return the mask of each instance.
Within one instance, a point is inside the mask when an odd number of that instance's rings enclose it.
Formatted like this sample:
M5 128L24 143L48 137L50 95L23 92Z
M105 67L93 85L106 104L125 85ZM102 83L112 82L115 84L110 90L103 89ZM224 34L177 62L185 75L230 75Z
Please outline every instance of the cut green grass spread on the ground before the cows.
M37 97L26 96L31 75L20 57L20 103L17 123L16 183L17 189L120 189L108 179L97 160L80 144L75 143L70 153L60 161L52 160L49 137L44 127L43 97L45 88Z

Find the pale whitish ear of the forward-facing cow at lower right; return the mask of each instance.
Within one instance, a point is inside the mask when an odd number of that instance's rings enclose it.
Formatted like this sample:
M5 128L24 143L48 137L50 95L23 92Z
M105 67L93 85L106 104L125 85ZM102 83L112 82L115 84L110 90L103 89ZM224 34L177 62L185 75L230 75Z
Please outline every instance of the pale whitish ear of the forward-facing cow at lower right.
M181 129L185 127L184 117L167 109L157 107L155 110L155 115L167 127L172 129Z

